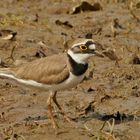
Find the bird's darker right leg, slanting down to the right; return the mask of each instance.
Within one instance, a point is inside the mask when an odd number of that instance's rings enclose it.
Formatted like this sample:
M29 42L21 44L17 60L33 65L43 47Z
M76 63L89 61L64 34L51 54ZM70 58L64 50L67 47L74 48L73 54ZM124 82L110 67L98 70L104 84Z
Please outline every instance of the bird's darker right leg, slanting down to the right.
M59 105L59 103L56 99L56 94L57 94L57 91L55 91L53 96L52 96L52 99L53 99L54 103L58 107L58 109L59 109L60 113L63 115L64 119L68 122L71 122L71 119L66 115L66 113L63 111L62 107Z

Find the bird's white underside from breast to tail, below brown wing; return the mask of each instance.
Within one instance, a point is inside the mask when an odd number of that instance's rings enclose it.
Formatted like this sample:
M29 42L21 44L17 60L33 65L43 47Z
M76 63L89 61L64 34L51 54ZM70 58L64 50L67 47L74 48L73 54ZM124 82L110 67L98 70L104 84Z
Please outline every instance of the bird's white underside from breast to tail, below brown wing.
M53 90L53 91L75 87L84 78L84 75L75 76L72 73L70 73L69 78L67 80L65 80L63 83L47 85L47 84L44 84L44 83L38 83L38 82L36 82L34 80L18 79L15 76L10 75L10 74L0 73L0 76L4 76L4 77L14 79L14 80L16 80L17 82L19 82L19 83L21 83L23 85L32 86L32 87L35 87L35 88L41 88L41 89L44 89L44 90Z

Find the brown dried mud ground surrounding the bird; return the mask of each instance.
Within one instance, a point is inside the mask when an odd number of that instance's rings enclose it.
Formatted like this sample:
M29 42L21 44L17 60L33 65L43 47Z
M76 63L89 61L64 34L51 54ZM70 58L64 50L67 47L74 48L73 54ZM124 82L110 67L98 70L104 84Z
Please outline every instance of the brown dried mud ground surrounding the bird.
M93 57L85 80L58 93L75 123L65 122L54 106L57 133L47 115L47 91L0 78L0 140L140 140L140 6L132 0L96 2L102 7L97 11L71 14L80 0L0 1L0 28L17 32L16 41L0 40L1 67L63 52L65 39L90 34L114 50L119 63ZM7 59L13 46L14 60Z

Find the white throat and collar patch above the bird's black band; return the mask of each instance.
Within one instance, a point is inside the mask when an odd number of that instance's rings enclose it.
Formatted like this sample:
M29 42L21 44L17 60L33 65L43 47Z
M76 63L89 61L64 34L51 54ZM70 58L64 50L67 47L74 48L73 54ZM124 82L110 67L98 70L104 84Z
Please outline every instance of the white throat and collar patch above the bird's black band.
M82 63L82 64L85 64L87 63L87 59L90 57L90 56L93 56L92 54L81 54L81 53L73 53L72 50L68 50L68 54L72 57L73 60L75 60L77 63Z

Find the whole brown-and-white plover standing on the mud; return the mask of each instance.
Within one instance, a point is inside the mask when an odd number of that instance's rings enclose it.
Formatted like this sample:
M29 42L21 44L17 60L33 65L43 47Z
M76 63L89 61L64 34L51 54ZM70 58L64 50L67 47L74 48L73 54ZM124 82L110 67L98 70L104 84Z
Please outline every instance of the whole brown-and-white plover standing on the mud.
M80 83L88 69L88 58L94 55L102 57L100 50L100 44L92 39L78 39L67 53L40 58L16 68L0 69L0 76L26 86L48 90L48 114L56 128L51 101L54 101L64 118L69 121L57 102L57 91L75 87Z

